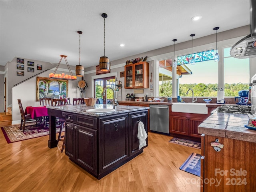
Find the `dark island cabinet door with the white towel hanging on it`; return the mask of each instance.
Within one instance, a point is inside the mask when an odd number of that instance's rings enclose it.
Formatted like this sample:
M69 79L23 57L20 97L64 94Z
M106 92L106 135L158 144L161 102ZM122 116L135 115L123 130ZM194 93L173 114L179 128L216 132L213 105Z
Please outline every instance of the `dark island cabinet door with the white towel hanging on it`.
M142 149L148 146L148 138L146 138L146 146L139 150L140 140L138 139L138 124L141 121L144 124L144 128L148 134L147 111L142 111L140 113L131 113L129 119L129 156L132 156L138 152L142 152Z

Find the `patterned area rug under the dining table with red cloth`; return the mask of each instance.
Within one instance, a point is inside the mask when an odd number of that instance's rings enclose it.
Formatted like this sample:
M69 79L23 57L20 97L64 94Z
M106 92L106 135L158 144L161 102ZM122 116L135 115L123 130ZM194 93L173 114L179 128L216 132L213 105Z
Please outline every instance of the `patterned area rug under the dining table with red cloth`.
M49 129L36 126L27 126L24 132L20 130L20 125L1 127L1 130L7 143L49 135ZM60 128L56 128L56 133L59 131Z

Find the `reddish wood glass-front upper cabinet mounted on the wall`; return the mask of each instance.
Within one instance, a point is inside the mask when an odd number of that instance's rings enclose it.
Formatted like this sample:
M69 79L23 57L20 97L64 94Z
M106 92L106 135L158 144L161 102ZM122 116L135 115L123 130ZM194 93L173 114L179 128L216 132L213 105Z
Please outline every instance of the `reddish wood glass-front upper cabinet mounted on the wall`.
M124 88L149 88L149 64L139 62L124 66Z

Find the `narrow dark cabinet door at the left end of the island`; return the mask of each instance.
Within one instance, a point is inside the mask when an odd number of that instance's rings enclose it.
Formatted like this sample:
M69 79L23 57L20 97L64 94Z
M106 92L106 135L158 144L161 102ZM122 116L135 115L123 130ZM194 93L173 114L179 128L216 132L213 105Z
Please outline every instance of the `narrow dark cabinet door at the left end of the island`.
M75 124L65 122L65 154L75 160Z

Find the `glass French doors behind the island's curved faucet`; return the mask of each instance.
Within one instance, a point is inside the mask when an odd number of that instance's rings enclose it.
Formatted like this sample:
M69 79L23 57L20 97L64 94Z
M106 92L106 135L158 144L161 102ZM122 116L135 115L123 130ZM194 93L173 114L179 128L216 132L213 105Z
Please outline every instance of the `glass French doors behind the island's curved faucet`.
M94 97L98 98L97 103L99 104L111 104L113 101L113 92L107 89L105 96L102 96L102 91L105 87L115 88L115 76L94 79Z

